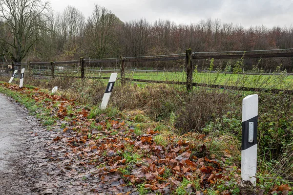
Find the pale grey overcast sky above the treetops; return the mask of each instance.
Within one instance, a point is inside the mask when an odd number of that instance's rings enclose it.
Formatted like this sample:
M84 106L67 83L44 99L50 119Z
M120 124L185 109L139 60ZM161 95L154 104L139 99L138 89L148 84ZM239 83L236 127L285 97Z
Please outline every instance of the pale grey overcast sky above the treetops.
M73 5L87 18L94 4L111 10L121 21L158 19L176 23L197 23L202 19L220 19L244 27L293 24L293 0L50 0L55 11Z

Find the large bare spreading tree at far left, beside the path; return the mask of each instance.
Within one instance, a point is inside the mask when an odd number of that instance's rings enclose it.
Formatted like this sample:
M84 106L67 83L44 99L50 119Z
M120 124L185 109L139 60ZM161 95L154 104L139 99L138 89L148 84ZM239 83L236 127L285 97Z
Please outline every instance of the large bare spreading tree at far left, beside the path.
M38 31L44 27L47 8L48 2L42 0L0 0L6 34L0 37L0 46L14 62L21 62L40 40Z

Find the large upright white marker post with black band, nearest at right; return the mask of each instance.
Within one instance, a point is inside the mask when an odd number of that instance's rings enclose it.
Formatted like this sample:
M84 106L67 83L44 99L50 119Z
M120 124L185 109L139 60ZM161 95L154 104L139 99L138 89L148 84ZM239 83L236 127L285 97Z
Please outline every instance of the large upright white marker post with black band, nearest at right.
M241 178L256 185L258 95L242 100Z

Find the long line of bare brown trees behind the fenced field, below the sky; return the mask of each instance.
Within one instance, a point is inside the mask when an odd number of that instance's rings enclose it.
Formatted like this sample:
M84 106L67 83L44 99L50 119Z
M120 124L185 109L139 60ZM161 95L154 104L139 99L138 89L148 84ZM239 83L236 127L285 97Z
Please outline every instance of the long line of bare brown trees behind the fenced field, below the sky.
M218 19L191 24L163 20L147 22L144 19L122 22L113 12L99 5L95 5L91 16L85 18L78 8L70 5L56 14L41 0L23 0L34 8L24 10L30 15L24 18L24 23L23 16L8 6L23 3L22 0L0 1L1 62L164 55L184 53L187 48L193 51L237 51L293 47L292 26L244 28ZM13 19L18 17L19 21ZM245 65L252 67L257 61L246 60ZM226 63L215 61L215 67ZM198 61L196 64L200 67L209 63ZM293 59L266 59L259 63L264 69L280 64L292 70Z

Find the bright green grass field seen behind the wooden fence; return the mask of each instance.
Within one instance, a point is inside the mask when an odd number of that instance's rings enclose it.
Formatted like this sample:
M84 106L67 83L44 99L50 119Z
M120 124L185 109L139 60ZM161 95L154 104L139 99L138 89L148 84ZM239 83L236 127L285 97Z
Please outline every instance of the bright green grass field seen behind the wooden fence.
M109 77L112 72L118 72L120 78L120 70L116 71L111 68L109 71L101 71L100 68L85 68L85 77ZM39 71L35 73L42 73L50 75L49 70ZM80 76L79 69L70 70L55 70L55 75L66 74L68 76ZM152 71L126 71L126 78L153 80L153 81L186 81L186 72L152 72ZM236 87L256 87L256 88L273 88L273 89L287 89L293 90L293 75L287 75L284 72L271 75L246 75L246 74L224 74L224 73L210 73L210 72L194 72L193 82L212 84L212 85L226 85ZM136 82L140 83L140 82Z

